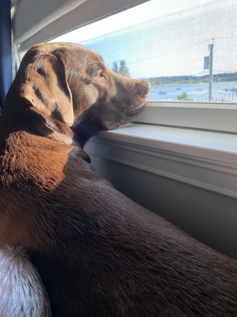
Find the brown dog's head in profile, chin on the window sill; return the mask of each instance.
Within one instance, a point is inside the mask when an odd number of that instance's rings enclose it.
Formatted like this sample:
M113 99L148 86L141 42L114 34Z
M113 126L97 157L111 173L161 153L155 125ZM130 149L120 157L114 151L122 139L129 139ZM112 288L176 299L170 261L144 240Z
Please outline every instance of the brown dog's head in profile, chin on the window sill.
M117 74L99 54L72 43L33 46L16 77L25 103L71 126L83 143L134 120L150 90L148 81Z

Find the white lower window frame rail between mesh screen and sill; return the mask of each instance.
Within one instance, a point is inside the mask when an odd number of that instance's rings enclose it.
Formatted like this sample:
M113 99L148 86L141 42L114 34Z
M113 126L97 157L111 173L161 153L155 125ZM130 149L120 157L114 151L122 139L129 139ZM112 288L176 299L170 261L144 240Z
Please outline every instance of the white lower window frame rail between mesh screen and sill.
M237 104L148 101L136 122L237 133Z

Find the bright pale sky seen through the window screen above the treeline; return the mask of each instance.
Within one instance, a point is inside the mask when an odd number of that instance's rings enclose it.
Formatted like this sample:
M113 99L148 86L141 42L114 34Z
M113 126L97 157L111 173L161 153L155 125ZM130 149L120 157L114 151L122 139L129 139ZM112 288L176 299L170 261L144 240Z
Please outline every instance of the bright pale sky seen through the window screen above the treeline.
M131 77L203 75L213 42L213 73L237 71L236 0L151 0L55 41L97 51L108 67L124 59Z

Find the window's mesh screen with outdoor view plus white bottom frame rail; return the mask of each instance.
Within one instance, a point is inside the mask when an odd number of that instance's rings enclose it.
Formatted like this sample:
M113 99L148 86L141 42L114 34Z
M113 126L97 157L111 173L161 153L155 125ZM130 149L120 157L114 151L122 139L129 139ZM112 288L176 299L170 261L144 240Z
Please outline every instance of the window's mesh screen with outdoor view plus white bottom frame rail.
M236 15L235 0L151 0L54 41L90 47L115 71L149 80L138 121L237 132Z

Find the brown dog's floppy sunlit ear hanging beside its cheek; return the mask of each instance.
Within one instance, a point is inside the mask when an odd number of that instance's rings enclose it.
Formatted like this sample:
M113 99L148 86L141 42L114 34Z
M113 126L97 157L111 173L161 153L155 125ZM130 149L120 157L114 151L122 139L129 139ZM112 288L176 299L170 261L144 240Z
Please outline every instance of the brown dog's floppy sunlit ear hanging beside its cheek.
M65 56L41 55L27 65L20 97L24 102L31 103L40 113L71 126L74 115Z

